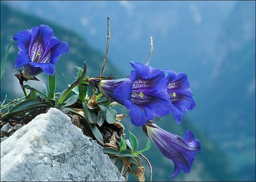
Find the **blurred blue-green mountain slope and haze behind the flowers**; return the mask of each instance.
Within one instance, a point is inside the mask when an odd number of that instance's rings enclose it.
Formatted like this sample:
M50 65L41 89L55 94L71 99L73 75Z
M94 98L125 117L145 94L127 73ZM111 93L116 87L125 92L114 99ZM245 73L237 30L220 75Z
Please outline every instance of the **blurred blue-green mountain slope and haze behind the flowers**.
M197 108L188 111L180 125L172 116L157 124L181 136L192 129L202 153L189 174L181 172L172 180L255 181L255 2L1 1L1 61L18 31L49 25L70 45L56 64L56 91L61 92L67 87L61 73L72 83L74 65L82 67L86 61L89 76L99 75L107 16L111 40L105 75L126 77L130 61L146 62L150 36L150 66L188 75ZM17 52L14 42L1 80L1 101L6 94L8 99L22 95L13 76ZM45 90L47 76L40 74L39 79L42 82L29 84ZM142 136L139 147L146 145L142 129L130 124L128 116L124 125L126 132ZM171 161L154 146L145 155L153 180L169 180Z

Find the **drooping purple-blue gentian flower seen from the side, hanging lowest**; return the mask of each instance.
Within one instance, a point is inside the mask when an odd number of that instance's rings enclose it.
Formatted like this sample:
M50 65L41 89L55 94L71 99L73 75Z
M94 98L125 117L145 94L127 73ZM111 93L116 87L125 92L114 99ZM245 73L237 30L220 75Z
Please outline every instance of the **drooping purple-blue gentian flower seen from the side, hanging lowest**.
M186 132L184 139L151 121L143 125L143 130L164 156L174 163L174 172L170 178L178 175L180 170L190 172L196 153L201 152L201 144L191 130Z

